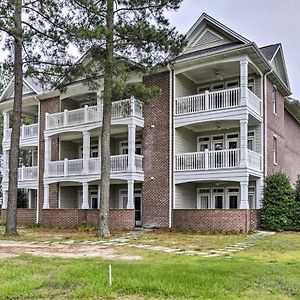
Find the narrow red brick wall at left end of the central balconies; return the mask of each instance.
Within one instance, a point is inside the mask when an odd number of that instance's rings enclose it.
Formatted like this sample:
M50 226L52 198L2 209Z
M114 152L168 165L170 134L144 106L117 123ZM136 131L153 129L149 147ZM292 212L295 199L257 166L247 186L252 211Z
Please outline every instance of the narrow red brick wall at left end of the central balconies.
M45 114L57 113L60 109L59 97L40 101L40 139L39 139L39 209L43 208L44 202L44 163L45 163ZM58 138L53 138L51 143L51 160L59 159ZM58 207L58 184L50 184L49 187L50 208ZM40 215L42 217L42 214Z

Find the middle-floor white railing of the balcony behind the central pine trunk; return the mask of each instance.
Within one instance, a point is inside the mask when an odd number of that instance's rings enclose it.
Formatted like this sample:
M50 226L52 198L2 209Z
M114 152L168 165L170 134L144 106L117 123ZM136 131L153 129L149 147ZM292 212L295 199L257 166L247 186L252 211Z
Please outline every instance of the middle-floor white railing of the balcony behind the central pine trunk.
M138 157L137 157L138 156ZM142 156L136 155L136 161L142 160ZM142 162L137 165L137 171L142 171ZM81 176L100 174L100 158L89 158L87 169L84 166L83 159L64 159L60 161L51 161L48 163L48 176ZM128 155L114 155L110 157L111 173L127 172L128 171Z

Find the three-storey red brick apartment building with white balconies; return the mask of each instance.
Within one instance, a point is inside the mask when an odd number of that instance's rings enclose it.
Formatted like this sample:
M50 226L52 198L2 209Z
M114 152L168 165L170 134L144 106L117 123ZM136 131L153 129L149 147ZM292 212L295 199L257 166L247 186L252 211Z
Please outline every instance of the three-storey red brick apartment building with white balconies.
M160 72L132 80L162 93L112 104L111 229L181 227L248 231L259 223L264 176L300 173L300 105L291 95L280 44L258 48L203 14L187 46ZM100 192L102 83L43 90L24 80L19 169L28 194L19 223L97 224ZM3 113L5 220L13 84Z

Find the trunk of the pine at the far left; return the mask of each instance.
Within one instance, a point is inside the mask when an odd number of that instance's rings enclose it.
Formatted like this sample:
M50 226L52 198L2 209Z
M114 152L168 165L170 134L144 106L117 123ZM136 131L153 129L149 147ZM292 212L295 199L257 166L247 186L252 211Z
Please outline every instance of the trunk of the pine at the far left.
M6 217L6 235L17 235L17 198L20 125L22 114L23 60L22 60L22 0L15 0L15 37L14 37L14 105L13 122L9 151L8 205Z

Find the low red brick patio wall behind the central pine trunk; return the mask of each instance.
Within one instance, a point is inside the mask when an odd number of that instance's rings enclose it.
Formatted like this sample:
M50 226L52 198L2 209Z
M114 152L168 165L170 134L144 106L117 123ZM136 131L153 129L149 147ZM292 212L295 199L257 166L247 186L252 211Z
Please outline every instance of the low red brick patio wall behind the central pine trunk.
M97 209L44 209L42 211L42 225L58 225L76 227L80 225L98 224ZM132 230L135 227L135 213L133 209L110 209L110 230Z

